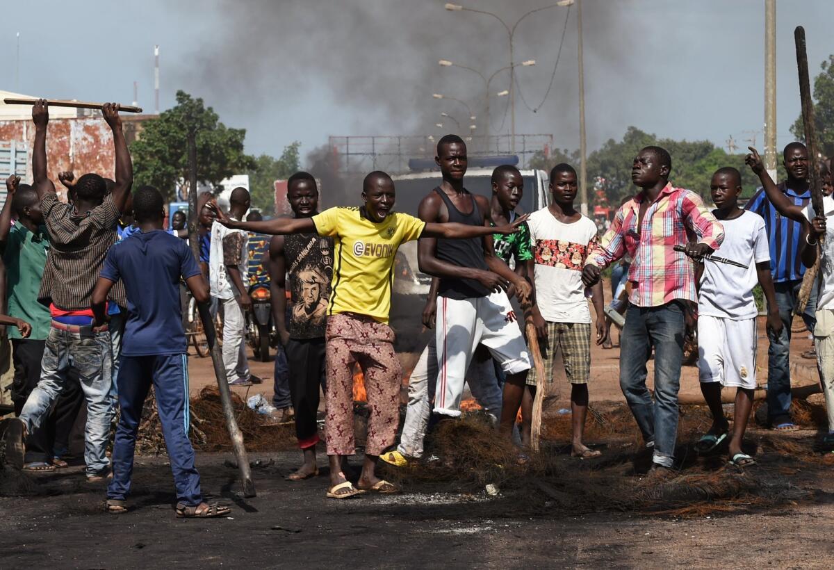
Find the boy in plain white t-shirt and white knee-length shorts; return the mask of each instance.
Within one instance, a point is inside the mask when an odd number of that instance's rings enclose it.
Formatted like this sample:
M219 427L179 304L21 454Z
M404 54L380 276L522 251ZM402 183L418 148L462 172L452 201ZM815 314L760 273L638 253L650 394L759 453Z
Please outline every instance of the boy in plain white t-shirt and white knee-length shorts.
M729 422L721 407L721 388L736 386L736 409L730 439L730 462L748 467L756 460L741 451L741 440L753 407L756 389L756 283L767 300L769 334L781 333L782 321L771 280L771 256L767 247L765 220L738 207L741 174L725 167L716 170L710 182L712 214L724 226L724 242L716 252L746 267L701 260L696 270L698 295L698 371L701 393L712 412L712 426L696 443L708 453L729 435ZM754 267L755 264L755 267Z

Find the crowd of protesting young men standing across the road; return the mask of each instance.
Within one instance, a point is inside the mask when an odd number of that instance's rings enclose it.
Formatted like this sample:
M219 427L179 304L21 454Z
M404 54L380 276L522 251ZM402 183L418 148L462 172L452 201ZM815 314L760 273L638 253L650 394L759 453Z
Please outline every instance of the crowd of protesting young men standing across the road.
M570 383L570 454L599 457L601 451L584 441L590 343L609 343L616 318L611 307L624 314L620 387L651 452L651 477L664 477L675 466L683 344L686 328L693 326L701 341L701 391L714 420L696 449L715 451L727 440L732 464L754 465L755 457L742 446L757 376L754 288L761 286L767 306L769 421L775 430L796 429L787 362L791 310L799 302L802 275L817 255L822 256L819 294L808 300L803 318L814 335L834 427L829 261L834 243L825 240L818 248L826 219L834 216L834 200L826 197L824 212L811 209L809 159L800 143L786 147L787 179L778 185L751 149L746 162L761 189L746 209L738 206L737 169L713 174L716 208L710 210L698 194L671 183L672 160L665 149L641 149L631 171L638 191L623 200L600 238L594 221L575 209L577 176L569 164L550 171L550 204L522 214L516 211L524 192L519 170L499 166L492 195L471 194L465 187L465 141L446 135L435 158L442 181L422 199L417 217L396 211L394 181L384 172L364 178L357 206L324 211L316 180L299 172L288 181L292 217L247 216L249 193L243 188L232 191L228 211L211 194L200 194L195 259L185 241L184 214L173 214L172 227L164 230L158 189L131 192L133 166L118 105L105 105L103 117L113 132L115 179L84 174L75 181L72 173L62 173L59 179L68 188L63 203L47 175L48 107L43 100L33 107L33 184L10 177L0 213L8 298L8 315L0 315L0 324L13 325L17 418L7 422L7 461L30 472L66 466L68 431L86 403L86 476L108 482L109 512L128 510L133 451L152 385L177 515L229 512L203 502L188 440L183 287L196 302L223 313L230 386L259 381L246 357L245 315L252 305L250 288L271 288L281 346L274 401L281 410L293 409L302 451L300 467L288 478L319 475L317 415L324 391L326 496L334 499L398 492L378 476L379 459L397 467L418 461L432 426L460 416L467 382L493 417L496 438L519 446L519 461L525 461L535 393L547 390L560 372L557 366L564 366ZM252 244L249 232L259 236ZM409 240L419 240L420 270L433 278L422 320L435 334L410 376L398 442L402 370L389 310L395 255ZM711 258L716 251L735 263ZM264 262L269 285L261 280ZM614 303L606 308L600 277L610 266L618 275ZM618 302L620 290L627 301ZM513 297L521 317L510 303ZM534 339L525 339L520 320L534 325L545 377L530 370L528 342ZM653 394L646 387L652 353ZM359 473L348 462L355 453L354 366L363 372L369 406ZM736 388L731 432L721 406L724 386ZM826 436L825 443L834 446L834 436Z

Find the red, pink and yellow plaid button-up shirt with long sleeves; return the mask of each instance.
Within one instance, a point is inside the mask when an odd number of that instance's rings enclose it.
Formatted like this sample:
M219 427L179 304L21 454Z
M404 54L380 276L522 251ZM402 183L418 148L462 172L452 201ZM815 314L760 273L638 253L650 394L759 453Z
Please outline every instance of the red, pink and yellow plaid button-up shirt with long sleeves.
M586 265L604 268L623 255L631 257L628 280L634 285L632 305L656 307L676 299L696 302L695 268L685 254L673 250L697 235L701 244L717 250L724 240L724 228L704 207L701 196L666 184L646 209L637 228L640 204L645 192L620 206L610 230Z

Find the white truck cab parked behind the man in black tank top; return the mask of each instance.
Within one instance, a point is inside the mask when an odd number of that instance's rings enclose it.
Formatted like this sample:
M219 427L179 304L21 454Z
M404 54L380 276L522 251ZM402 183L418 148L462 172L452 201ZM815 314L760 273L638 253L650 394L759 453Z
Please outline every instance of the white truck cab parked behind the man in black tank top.
M464 186L472 194L492 197L493 168L470 168L466 170ZM530 214L550 204L548 177L544 170L520 170L524 179L524 194L516 211ZM440 172L419 172L392 176L396 201L394 210L417 215L420 201L442 181ZM390 322L397 333L398 351L420 351L425 340L422 338L423 325L420 315L425 306L426 295L431 285L430 275L420 273L417 262L417 242L410 241L399 246L394 265L394 288L391 297Z

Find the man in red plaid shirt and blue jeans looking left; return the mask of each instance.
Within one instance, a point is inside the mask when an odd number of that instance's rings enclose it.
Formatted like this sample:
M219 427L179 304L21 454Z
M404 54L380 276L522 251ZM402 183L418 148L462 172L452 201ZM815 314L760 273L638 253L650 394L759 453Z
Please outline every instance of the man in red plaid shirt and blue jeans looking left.
M585 286L600 279L600 269L628 254L628 280L634 289L620 340L620 388L653 449L652 472L672 467L677 436L677 393L681 380L687 304L697 300L691 260L715 251L724 229L701 197L669 183L671 157L649 146L631 167L631 180L642 190L623 204L600 247L588 256ZM700 241L690 243L698 237ZM673 250L683 245L686 252ZM655 349L655 402L646 388L646 356Z

